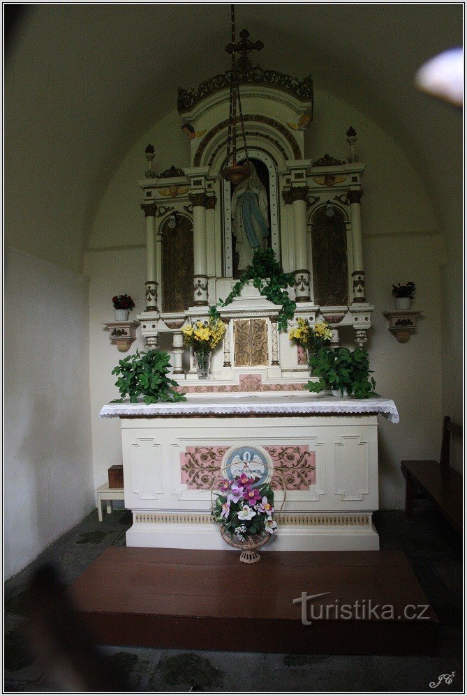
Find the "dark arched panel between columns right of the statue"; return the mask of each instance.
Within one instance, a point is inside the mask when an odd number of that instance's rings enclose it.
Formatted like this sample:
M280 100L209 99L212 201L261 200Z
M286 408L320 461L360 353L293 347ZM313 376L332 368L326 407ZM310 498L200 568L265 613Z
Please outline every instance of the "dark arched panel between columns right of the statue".
M313 297L321 306L348 304L347 232L343 214L334 208L329 217L322 208L311 220Z

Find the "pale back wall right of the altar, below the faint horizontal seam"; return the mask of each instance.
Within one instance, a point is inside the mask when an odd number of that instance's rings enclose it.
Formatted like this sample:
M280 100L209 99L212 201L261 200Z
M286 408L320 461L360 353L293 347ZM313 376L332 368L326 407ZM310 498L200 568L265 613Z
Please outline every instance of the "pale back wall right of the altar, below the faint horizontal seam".
M366 281L375 305L367 349L376 391L394 399L400 421L379 418L380 506L403 508L403 459L438 459L441 445L440 234L375 235L364 239ZM399 343L382 312L394 309L395 280L417 285L414 310L423 314L417 332Z

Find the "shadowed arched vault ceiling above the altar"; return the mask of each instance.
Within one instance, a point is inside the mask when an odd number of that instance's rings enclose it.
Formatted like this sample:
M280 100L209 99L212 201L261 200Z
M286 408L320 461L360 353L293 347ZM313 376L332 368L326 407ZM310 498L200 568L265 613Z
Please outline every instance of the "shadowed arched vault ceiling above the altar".
M461 45L460 3L250 3L237 6L243 27L265 43L262 67L311 73L395 137L451 234L461 114L417 92L413 77ZM178 85L228 68L229 33L226 4L29 6L6 63L6 242L79 271L115 167L173 109Z

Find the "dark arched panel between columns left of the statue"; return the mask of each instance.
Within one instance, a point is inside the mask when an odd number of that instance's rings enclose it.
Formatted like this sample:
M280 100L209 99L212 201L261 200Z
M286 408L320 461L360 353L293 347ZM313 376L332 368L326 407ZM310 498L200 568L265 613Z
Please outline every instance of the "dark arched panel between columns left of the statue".
M175 212L176 225L169 227L174 213L161 226L162 311L183 312L193 301L193 220Z

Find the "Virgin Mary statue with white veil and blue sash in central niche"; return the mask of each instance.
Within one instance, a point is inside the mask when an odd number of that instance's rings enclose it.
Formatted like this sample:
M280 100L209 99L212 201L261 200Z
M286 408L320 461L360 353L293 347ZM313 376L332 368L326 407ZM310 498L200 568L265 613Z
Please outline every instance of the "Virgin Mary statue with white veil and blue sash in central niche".
M251 265L255 250L267 248L269 237L267 192L251 160L248 166L249 178L239 183L232 195L232 223L239 271Z

